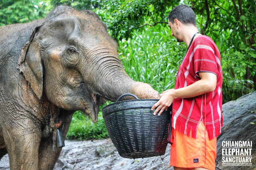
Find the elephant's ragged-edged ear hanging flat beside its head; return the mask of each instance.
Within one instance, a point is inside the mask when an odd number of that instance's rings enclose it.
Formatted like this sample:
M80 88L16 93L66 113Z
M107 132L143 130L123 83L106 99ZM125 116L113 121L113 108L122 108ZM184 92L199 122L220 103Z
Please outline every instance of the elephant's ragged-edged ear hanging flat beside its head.
M43 93L43 64L39 44L34 40L39 29L40 26L35 28L29 41L21 49L17 68L20 73L23 72L38 99L41 99Z

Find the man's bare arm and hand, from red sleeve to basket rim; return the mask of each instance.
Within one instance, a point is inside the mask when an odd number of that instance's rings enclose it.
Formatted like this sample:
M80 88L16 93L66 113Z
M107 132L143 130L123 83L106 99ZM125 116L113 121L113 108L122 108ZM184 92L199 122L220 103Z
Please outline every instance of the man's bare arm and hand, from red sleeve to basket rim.
M216 88L217 76L209 72L199 72L198 74L201 79L197 82L180 89L169 89L160 94L160 100L151 108L151 110L154 110L158 106L154 115L160 110L158 113L158 116L160 116L164 110L171 106L174 99L196 97L213 92Z

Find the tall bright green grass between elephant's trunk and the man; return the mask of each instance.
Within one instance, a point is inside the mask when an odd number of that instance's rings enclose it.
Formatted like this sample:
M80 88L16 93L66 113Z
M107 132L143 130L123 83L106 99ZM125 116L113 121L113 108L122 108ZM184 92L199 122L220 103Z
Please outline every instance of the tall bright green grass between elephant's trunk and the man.
M167 26L166 26L167 27ZM119 58L135 81L150 84L160 93L174 88L176 73L187 46L172 39L170 29L143 27L127 41L119 41Z

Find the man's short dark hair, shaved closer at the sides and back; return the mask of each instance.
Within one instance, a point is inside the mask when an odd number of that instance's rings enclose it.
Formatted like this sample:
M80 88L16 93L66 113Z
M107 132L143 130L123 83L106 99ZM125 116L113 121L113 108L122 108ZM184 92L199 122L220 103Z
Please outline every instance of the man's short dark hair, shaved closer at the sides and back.
M168 15L168 21L174 24L174 19L182 24L193 25L196 27L196 16L194 11L187 5L178 5L171 10Z

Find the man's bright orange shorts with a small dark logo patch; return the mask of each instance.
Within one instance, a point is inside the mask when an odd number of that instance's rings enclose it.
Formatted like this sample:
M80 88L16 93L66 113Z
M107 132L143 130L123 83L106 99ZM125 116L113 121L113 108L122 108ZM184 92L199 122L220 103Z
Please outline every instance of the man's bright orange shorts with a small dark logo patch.
M217 137L209 140L208 132L201 121L197 127L197 138L173 130L170 165L182 168L204 167L215 170Z

